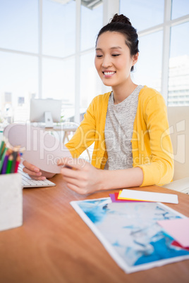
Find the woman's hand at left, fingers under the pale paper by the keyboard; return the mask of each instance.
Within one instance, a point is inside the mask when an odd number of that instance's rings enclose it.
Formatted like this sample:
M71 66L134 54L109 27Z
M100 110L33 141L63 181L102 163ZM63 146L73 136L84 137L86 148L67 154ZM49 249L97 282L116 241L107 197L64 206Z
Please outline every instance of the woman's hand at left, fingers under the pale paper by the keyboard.
M28 175L35 180L45 180L46 178L51 178L55 175L54 173L40 170L35 165L32 165L27 161L23 161L23 165L25 166L23 168L23 172L28 173Z

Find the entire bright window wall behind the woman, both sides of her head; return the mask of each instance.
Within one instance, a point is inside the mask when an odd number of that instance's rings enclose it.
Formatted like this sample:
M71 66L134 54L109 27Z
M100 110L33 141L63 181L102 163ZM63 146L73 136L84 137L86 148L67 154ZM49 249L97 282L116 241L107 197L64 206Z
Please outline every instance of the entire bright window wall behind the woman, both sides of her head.
M159 90L170 106L189 105L189 1L119 4L140 39L134 82ZM83 117L92 98L106 91L94 68L103 15L102 0L0 0L0 122L28 120L33 97L61 99L66 120L77 109Z

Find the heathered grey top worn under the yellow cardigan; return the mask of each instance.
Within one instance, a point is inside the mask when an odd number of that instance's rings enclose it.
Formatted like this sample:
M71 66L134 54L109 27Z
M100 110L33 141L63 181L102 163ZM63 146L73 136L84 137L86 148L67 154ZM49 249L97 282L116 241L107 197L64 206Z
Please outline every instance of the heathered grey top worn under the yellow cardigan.
M104 130L108 160L104 169L118 170L133 167L131 139L138 108L138 94L142 87L138 85L132 94L116 105L114 94L111 92L109 96Z

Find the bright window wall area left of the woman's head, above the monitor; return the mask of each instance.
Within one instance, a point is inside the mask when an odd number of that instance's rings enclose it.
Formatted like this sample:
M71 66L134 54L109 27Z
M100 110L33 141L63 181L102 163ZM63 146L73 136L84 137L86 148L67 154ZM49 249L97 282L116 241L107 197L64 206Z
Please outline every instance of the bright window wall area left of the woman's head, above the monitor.
M90 100L102 93L94 70L94 45L103 23L102 0L81 1L79 9L78 3L0 0L0 26L4 27L0 29L0 118L25 121L29 119L30 98L51 97L62 99L64 120L73 120L75 109L85 111ZM80 46L76 50L77 18ZM83 70L83 74L76 74L76 70Z

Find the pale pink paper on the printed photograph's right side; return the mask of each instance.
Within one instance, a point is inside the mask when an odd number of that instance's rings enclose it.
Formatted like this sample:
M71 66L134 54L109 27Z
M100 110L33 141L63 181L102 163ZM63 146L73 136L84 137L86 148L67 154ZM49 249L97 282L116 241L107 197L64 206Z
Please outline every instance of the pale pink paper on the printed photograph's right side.
M173 239L183 247L189 247L189 218L157 221Z

